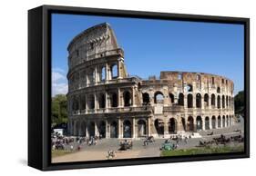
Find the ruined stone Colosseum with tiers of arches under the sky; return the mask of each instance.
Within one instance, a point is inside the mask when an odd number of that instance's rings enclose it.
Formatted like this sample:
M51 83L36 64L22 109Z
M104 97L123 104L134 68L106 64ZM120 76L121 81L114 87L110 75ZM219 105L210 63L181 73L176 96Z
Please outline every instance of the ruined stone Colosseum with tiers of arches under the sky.
M70 135L162 138L233 124L230 79L190 72L132 76L108 23L78 34L67 50Z

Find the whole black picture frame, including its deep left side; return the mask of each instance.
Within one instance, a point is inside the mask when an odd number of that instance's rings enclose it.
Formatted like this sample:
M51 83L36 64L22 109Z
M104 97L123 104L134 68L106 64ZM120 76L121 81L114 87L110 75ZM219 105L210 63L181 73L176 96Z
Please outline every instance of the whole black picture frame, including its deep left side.
M171 158L138 158L111 161L51 163L51 14L107 15L133 18L212 22L244 25L245 150ZM250 19L211 15L181 15L156 12L42 5L28 11L28 165L42 171L110 166L209 161L250 157Z

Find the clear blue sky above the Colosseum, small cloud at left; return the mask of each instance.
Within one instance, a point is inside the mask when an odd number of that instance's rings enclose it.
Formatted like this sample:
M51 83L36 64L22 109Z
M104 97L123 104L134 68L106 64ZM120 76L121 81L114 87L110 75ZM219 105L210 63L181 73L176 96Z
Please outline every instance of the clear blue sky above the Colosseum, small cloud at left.
M216 24L93 15L52 15L52 92L67 93L67 45L95 24L108 22L125 51L128 73L148 78L160 71L224 75L243 90L242 24Z

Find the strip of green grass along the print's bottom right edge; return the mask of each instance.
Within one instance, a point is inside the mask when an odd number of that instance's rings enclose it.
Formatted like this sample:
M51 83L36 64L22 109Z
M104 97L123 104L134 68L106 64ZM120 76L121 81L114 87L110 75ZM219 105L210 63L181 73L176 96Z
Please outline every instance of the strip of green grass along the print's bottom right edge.
M174 151L162 151L161 156L182 156L182 155L197 155L197 154L212 154L225 152L243 152L243 145L239 146L221 146L221 147L202 147L192 149L179 149Z

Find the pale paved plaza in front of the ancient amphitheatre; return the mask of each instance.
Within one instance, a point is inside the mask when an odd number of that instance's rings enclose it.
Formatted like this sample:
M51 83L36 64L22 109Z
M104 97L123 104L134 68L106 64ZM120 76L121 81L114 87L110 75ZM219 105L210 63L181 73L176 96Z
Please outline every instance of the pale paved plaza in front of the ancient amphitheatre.
M241 132L239 132L241 131ZM207 135L213 132L213 135ZM229 128L213 129L209 131L199 132L200 138L191 138L188 143L185 140L179 142L178 149L189 149L195 148L199 145L200 141L210 141L212 138L220 137L220 134L225 136L234 136L241 134L243 136L243 125L242 123L235 123ZM141 158L141 157L159 157L161 143L165 142L166 139L156 139L156 142L149 143L147 146L143 145L144 139L133 140L133 147L131 150L118 151L119 140L118 139L102 139L97 142L97 145L88 146L86 142L82 143L81 150L79 152L70 153L67 155L54 157L53 162L67 162L67 161L97 161L97 160L108 160L107 155L109 150L116 152L116 159L130 159L130 158ZM173 141L174 142L174 141ZM77 149L78 143L73 142L66 145L66 150L70 149L70 145Z

